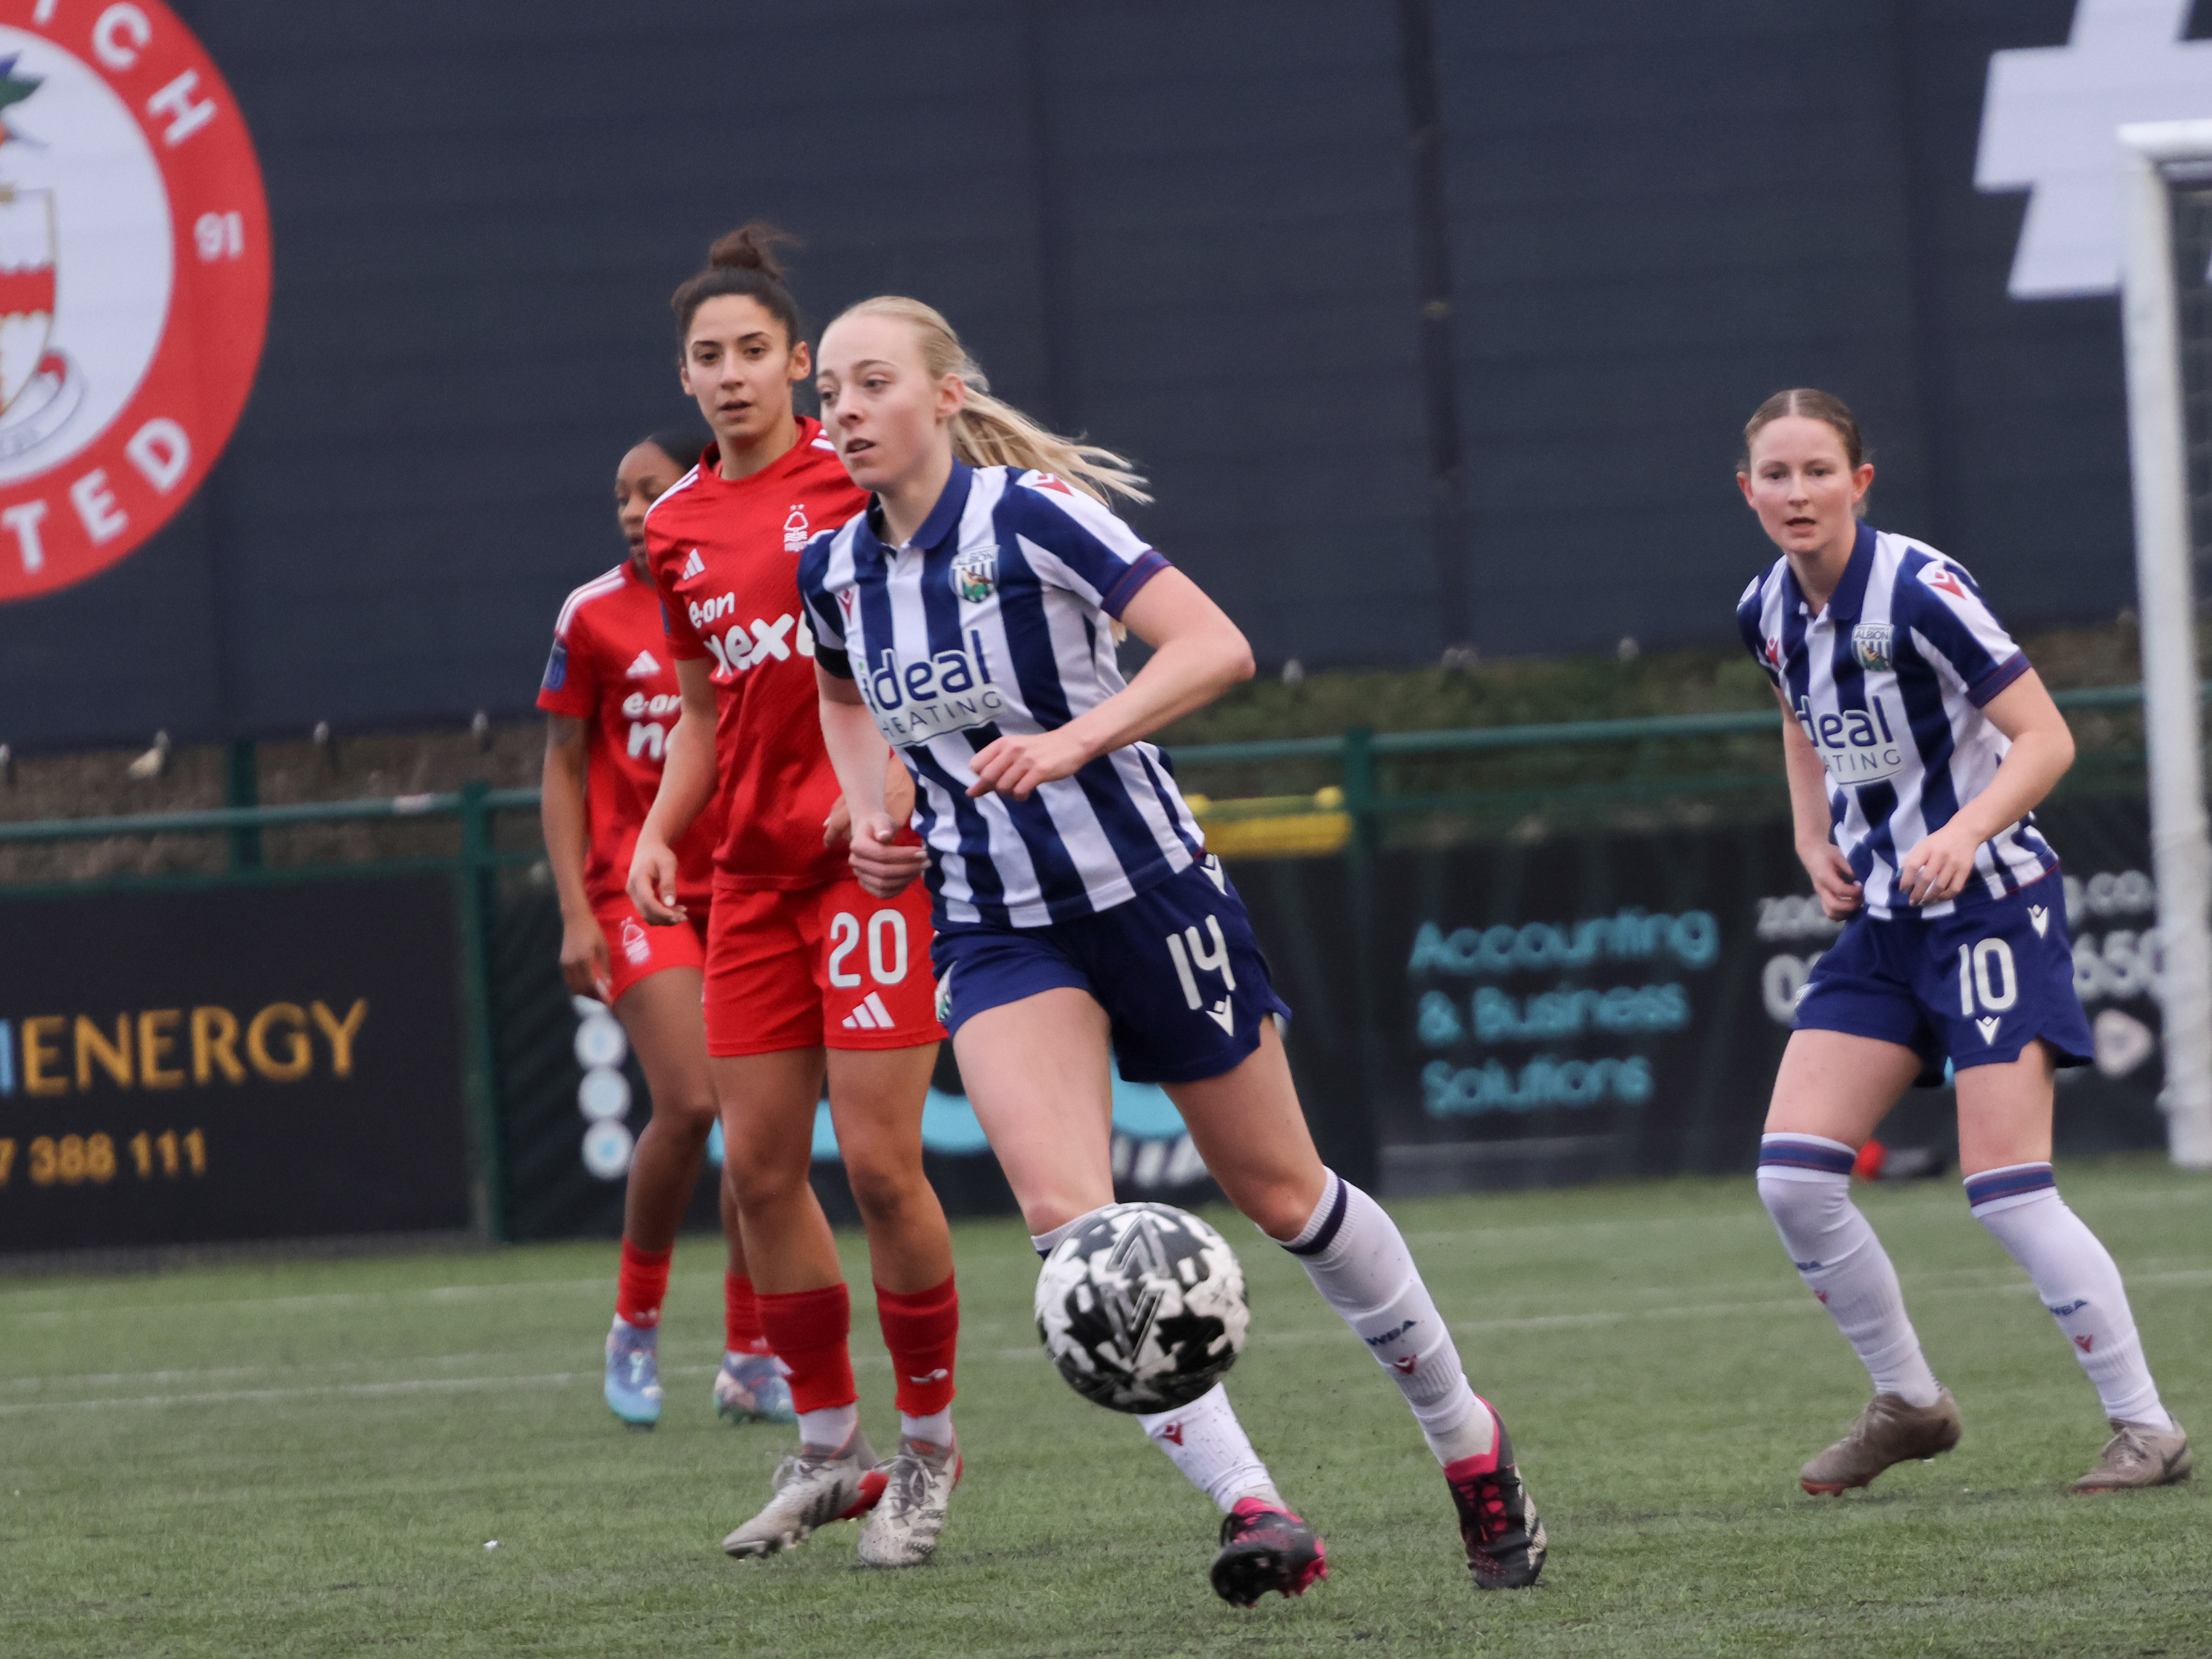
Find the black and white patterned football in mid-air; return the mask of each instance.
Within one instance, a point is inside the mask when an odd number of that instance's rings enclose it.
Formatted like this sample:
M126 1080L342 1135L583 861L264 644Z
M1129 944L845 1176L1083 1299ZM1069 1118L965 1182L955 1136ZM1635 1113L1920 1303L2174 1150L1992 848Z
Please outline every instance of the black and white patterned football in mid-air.
M1115 1203L1037 1274L1037 1336L1060 1376L1110 1411L1175 1411L1219 1383L1252 1312L1228 1239L1168 1203Z

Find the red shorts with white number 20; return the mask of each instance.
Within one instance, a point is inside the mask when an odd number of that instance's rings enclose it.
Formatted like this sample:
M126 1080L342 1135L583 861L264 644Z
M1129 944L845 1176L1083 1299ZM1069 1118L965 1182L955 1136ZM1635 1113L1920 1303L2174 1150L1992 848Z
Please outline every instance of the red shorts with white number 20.
M706 1051L916 1048L942 1042L929 889L872 898L847 876L796 891L714 894Z

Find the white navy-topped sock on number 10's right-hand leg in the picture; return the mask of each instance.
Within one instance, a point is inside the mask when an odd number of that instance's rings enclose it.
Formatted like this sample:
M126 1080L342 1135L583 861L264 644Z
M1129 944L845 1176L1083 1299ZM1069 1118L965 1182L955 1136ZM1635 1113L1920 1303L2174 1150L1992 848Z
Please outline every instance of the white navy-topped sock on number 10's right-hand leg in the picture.
M2150 1380L2112 1252L2088 1230L2051 1179L2048 1164L2008 1164L1966 1179L1966 1201L1997 1243L2028 1270L2075 1358L2117 1422L2172 1429Z

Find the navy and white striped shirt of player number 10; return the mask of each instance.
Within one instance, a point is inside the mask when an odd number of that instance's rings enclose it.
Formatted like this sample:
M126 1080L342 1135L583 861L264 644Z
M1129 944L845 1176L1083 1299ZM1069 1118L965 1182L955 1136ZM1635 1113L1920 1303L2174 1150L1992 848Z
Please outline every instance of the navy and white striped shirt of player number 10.
M1867 914L1887 918L1902 905L1898 860L1986 790L2011 750L1982 708L2028 672L2026 653L1960 564L1867 524L1825 611L1778 557L1743 591L1736 626L1827 768L1836 845ZM1982 843L1958 900L1918 909L2004 898L2057 863L2031 812Z

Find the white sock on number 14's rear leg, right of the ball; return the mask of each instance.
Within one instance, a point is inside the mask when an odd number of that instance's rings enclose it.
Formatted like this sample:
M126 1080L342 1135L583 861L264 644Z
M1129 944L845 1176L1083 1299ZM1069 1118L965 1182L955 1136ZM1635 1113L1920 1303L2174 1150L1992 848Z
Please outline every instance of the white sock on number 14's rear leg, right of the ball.
M1296 1239L1279 1239L1305 1267L1321 1298L1367 1343L1413 1407L1413 1420L1438 1462L1478 1458L1498 1444L1498 1420L1475 1398L1460 1369L1460 1349L1444 1329L1413 1252L1383 1206L1325 1172L1321 1203Z

